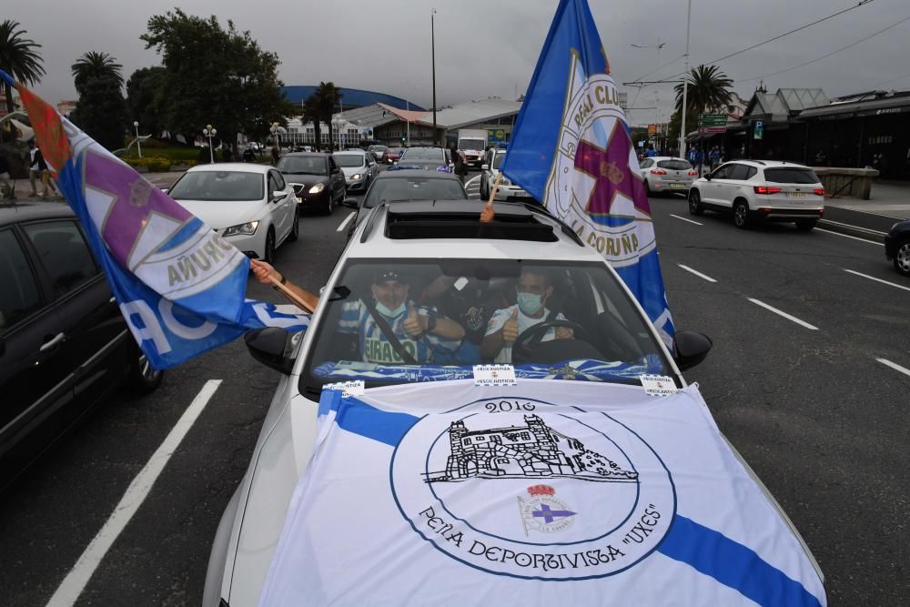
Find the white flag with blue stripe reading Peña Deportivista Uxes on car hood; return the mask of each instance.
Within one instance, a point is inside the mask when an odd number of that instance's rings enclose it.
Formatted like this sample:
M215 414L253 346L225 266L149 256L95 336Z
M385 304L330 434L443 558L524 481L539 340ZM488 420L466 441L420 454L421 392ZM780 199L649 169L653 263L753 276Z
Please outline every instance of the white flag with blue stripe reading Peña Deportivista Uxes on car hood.
M324 390L259 604L824 605L694 386Z

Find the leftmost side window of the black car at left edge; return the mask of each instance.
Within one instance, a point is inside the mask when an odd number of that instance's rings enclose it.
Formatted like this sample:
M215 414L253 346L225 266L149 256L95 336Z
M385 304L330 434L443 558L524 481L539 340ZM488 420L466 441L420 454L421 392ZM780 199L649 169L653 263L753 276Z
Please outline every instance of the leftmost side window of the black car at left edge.
M35 310L41 296L25 251L12 229L0 230L0 335Z

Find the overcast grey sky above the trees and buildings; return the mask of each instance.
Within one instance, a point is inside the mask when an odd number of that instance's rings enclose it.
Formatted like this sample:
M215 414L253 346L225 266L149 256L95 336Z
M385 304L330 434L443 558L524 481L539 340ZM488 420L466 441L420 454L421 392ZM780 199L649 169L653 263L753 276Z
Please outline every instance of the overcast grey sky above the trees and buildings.
M629 93L630 122L668 120L672 85L637 88L642 76L685 49L685 0L589 0L620 90ZM858 0L693 0L693 65L804 25ZM48 101L76 98L70 66L86 51L104 51L124 77L159 63L139 35L148 17L179 5L191 15L217 15L248 29L281 59L287 85L331 80L410 98L430 107L430 10L436 15L436 81L440 106L524 93L557 0L26 0L6 3L2 18L20 22L41 44L47 75L35 91ZM907 0L873 0L820 25L721 62L744 98L755 76L796 66L847 46L910 16ZM821 87L829 97L873 88L910 89L910 21L810 66L764 79L779 87ZM682 59L645 79L682 72ZM632 101L634 100L634 104Z

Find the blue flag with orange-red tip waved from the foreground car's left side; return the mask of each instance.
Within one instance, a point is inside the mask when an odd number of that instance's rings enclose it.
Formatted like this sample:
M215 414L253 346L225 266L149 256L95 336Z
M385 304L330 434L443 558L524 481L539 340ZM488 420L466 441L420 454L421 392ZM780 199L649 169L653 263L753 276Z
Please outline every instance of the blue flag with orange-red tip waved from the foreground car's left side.
M126 324L156 369L248 329L306 329L309 317L244 297L249 259L60 116L16 86L60 192L105 270Z

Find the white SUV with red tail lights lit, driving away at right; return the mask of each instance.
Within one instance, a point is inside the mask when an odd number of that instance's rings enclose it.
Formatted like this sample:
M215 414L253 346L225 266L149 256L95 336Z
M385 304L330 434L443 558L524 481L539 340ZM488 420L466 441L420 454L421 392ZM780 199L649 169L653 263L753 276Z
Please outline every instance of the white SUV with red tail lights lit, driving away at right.
M689 212L733 211L737 228L756 219L793 221L810 230L824 215L824 186L810 167L777 160L734 160L697 179Z

